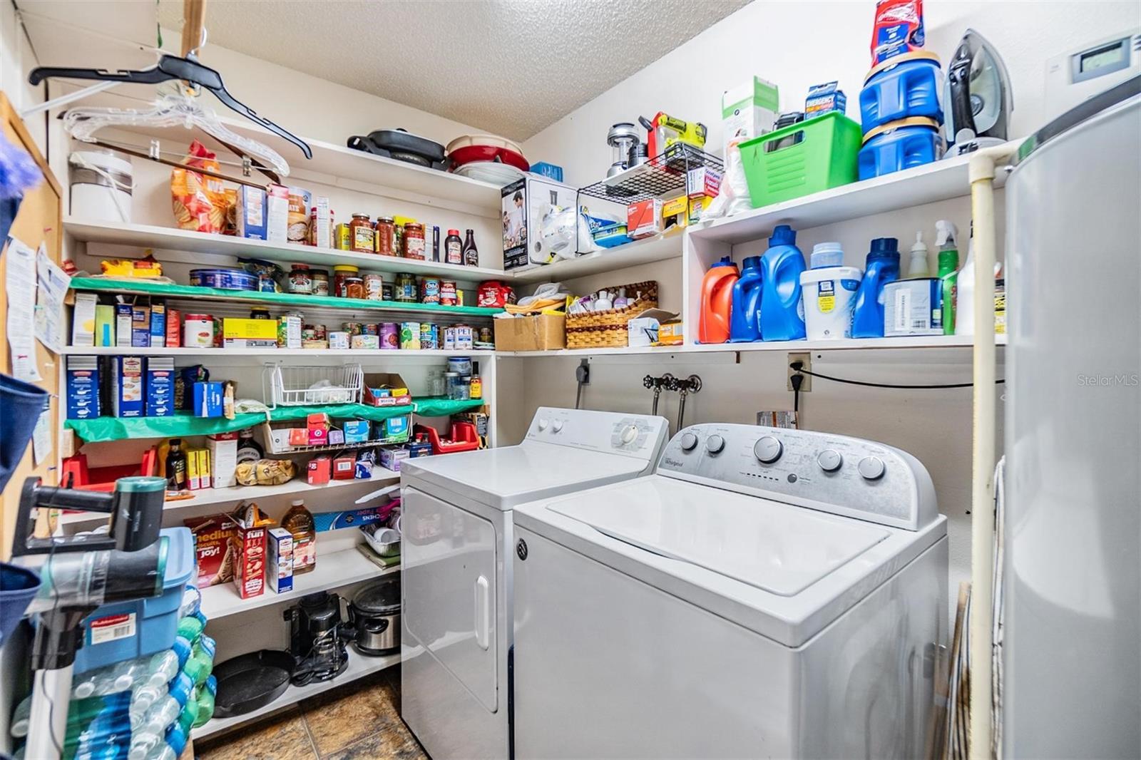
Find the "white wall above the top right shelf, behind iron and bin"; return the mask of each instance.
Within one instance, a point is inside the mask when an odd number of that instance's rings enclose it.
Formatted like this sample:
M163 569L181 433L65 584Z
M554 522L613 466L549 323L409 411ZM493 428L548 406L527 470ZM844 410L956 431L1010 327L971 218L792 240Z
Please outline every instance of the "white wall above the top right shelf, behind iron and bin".
M563 165L570 184L602 177L610 164L606 130L658 111L709 127L720 153L721 92L762 76L780 89L782 111L802 111L809 86L839 80L848 115L871 67L874 2L756 0L616 84L523 144L532 161ZM1002 55L1013 81L1011 137L1042 126L1046 58L1141 25L1134 0L1049 2L928 0L926 48L946 62L966 27Z

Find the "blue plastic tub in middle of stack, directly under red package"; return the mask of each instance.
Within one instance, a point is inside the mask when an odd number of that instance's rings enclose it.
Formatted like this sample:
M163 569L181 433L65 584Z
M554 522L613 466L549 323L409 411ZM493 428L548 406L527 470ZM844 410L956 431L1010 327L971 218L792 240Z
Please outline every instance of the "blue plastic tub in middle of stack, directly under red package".
M933 52L917 50L889 58L867 73L859 94L864 134L922 116L942 123L942 70Z

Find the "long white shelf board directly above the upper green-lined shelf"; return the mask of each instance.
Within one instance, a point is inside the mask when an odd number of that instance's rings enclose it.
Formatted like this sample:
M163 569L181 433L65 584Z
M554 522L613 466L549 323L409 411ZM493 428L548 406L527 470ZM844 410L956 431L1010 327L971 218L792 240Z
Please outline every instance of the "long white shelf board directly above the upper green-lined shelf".
M155 225L124 225L67 217L64 219L64 231L75 240L86 243L234 256L282 264L300 262L325 267L330 272L335 264L350 264L361 267L362 270L411 272L416 275L434 275L469 282L503 278L502 269L464 267L439 261L419 261L396 256L380 256L379 253L355 253L316 245L301 245L300 243L270 243L264 240L215 235Z

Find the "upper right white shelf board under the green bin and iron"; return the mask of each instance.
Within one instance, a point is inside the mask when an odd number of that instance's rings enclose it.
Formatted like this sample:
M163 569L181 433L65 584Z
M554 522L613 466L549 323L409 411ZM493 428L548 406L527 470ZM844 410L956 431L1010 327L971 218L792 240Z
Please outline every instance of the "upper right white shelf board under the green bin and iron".
M744 243L768 236L780 224L806 229L970 195L970 160L968 154L841 185L719 219L705 227L691 228L689 235L697 240ZM1005 180L1005 171L995 172L995 186L1001 187Z

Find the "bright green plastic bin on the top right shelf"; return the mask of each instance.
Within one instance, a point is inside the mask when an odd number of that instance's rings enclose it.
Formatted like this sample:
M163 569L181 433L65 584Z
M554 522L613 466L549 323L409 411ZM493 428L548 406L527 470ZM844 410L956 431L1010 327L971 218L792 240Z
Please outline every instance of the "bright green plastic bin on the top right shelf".
M859 148L859 124L836 111L742 143L753 208L856 181Z

